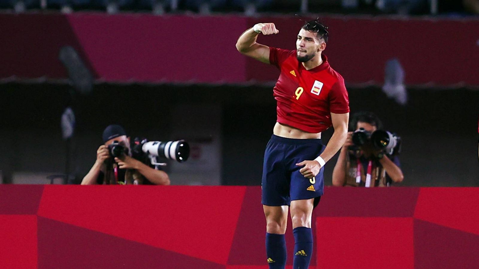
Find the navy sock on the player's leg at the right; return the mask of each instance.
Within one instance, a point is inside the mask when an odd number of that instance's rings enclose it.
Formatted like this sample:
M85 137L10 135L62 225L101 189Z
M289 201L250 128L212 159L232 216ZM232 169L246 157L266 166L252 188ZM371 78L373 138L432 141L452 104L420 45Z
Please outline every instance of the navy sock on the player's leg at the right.
M293 229L295 236L294 269L308 269L313 253L313 231L311 228L297 227Z

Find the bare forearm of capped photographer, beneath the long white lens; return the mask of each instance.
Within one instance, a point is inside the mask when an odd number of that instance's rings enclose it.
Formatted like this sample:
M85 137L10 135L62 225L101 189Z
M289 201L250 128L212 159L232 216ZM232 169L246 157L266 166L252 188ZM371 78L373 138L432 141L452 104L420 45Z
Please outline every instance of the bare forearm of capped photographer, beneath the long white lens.
M156 185L170 185L170 177L164 171L153 169L148 165L138 161L135 158L124 156L122 159L115 157L115 162L118 163L120 169L136 169L151 183Z

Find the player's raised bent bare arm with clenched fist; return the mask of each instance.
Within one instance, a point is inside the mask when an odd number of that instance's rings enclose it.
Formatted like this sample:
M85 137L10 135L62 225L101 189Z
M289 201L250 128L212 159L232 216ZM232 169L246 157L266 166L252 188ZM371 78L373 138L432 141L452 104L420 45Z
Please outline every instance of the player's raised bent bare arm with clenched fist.
M279 31L274 26L274 23L257 23L252 28L246 30L241 34L236 42L236 49L246 56L250 56L258 61L269 64L270 48L256 42L258 34L278 34Z

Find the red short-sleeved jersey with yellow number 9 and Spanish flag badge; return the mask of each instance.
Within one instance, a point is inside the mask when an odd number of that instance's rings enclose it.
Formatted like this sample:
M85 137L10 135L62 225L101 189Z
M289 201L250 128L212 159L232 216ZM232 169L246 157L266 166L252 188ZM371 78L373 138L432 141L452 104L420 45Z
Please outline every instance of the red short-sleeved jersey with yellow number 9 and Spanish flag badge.
M270 63L281 70L273 89L277 101L277 122L308 133L331 127L331 112L349 112L344 79L334 71L325 55L318 67L306 70L296 50L270 47Z

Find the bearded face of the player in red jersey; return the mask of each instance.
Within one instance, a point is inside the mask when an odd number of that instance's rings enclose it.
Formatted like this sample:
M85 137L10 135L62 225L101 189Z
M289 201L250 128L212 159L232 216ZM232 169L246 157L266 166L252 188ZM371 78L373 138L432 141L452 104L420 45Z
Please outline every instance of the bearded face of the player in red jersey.
M316 37L316 33L301 28L296 40L296 57L300 62L307 62L325 47L326 44Z

